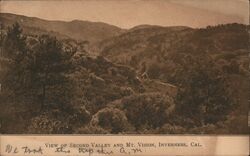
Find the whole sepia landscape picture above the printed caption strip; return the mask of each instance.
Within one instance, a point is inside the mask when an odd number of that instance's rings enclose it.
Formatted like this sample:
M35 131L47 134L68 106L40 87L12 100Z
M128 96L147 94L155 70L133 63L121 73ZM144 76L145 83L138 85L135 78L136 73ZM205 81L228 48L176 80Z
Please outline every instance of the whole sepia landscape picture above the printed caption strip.
M248 0L0 0L0 133L249 134L249 32Z

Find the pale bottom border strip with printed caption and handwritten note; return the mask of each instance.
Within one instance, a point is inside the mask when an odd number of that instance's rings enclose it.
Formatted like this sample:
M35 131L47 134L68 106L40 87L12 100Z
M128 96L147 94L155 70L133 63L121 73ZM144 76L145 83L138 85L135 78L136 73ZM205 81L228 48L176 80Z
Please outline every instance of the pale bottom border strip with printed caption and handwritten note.
M163 156L204 153L230 156L248 152L247 136L1 136L0 142L1 156Z

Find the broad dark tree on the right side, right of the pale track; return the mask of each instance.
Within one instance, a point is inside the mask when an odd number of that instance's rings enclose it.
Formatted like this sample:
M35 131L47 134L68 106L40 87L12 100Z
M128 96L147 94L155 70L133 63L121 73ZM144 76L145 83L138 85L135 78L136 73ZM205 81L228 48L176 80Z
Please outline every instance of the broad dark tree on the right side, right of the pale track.
M226 91L226 77L205 54L192 56L178 71L177 112L197 125L223 120L233 106Z

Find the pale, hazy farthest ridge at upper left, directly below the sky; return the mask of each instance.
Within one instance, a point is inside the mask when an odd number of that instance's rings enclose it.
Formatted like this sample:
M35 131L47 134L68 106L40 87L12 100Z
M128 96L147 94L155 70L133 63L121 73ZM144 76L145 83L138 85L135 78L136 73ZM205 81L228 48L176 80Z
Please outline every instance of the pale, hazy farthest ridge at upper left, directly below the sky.
M60 39L72 38L75 40L89 41L90 43L119 35L124 30L101 22L73 20L48 21L35 17L26 17L9 13L0 14L0 22L5 26L19 22L28 35L51 34Z

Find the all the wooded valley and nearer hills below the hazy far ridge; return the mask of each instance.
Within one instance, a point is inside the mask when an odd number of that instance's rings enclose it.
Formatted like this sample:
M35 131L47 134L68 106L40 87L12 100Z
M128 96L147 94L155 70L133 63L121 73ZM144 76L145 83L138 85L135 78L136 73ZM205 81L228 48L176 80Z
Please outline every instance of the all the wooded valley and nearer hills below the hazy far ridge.
M1 133L248 133L248 29L138 26L90 39L95 56L88 37L5 24Z

